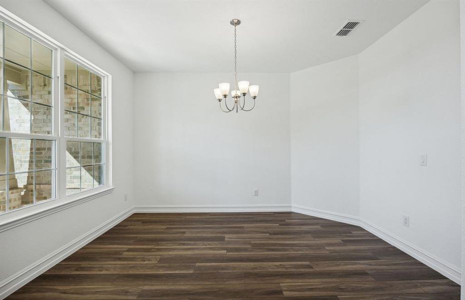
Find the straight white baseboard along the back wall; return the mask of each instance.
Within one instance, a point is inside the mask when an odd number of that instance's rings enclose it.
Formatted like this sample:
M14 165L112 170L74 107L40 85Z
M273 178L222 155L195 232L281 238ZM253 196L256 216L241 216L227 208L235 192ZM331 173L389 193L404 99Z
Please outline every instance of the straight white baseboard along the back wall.
M136 205L134 212L260 212L291 211L290 204L250 205Z

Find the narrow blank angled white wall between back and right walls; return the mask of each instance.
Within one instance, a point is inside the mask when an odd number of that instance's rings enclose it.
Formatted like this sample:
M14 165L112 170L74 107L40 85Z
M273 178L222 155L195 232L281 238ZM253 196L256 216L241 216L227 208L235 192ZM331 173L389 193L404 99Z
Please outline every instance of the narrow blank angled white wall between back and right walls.
M358 215L358 61L290 75L292 204Z

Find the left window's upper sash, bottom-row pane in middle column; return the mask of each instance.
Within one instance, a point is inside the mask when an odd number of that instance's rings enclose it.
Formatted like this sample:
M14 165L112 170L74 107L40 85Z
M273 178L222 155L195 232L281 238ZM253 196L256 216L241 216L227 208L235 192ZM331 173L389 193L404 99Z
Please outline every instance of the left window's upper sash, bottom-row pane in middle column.
M30 133L30 103L8 98L4 105L4 130L12 132Z

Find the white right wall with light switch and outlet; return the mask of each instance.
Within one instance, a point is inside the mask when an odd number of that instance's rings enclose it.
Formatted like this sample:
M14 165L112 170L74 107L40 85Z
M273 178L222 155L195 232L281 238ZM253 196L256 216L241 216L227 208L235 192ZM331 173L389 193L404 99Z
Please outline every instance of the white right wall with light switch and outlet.
M458 12L430 1L359 54L360 216L457 270Z

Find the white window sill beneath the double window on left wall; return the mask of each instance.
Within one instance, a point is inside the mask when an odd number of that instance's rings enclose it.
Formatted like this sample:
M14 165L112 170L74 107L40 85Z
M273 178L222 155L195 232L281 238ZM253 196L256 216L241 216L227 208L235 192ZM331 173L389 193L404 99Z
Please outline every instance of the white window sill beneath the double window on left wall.
M56 199L55 205L46 207L45 209L41 209L38 211L34 211L28 214L23 214L20 216L12 216L8 217L7 215L2 215L1 220L0 220L0 232L9 230L11 228L14 228L16 226L20 226L22 224L28 223L30 221L42 218L44 216L50 215L52 213L61 211L63 209L67 209L69 207L81 204L83 202L87 202L89 200L101 197L103 195L109 194L113 192L114 186L110 187L101 187L98 189L95 189L93 193L91 194L85 194L77 198L73 198L71 200L67 200L65 202L59 201L59 199ZM36 206L37 207L37 206Z

